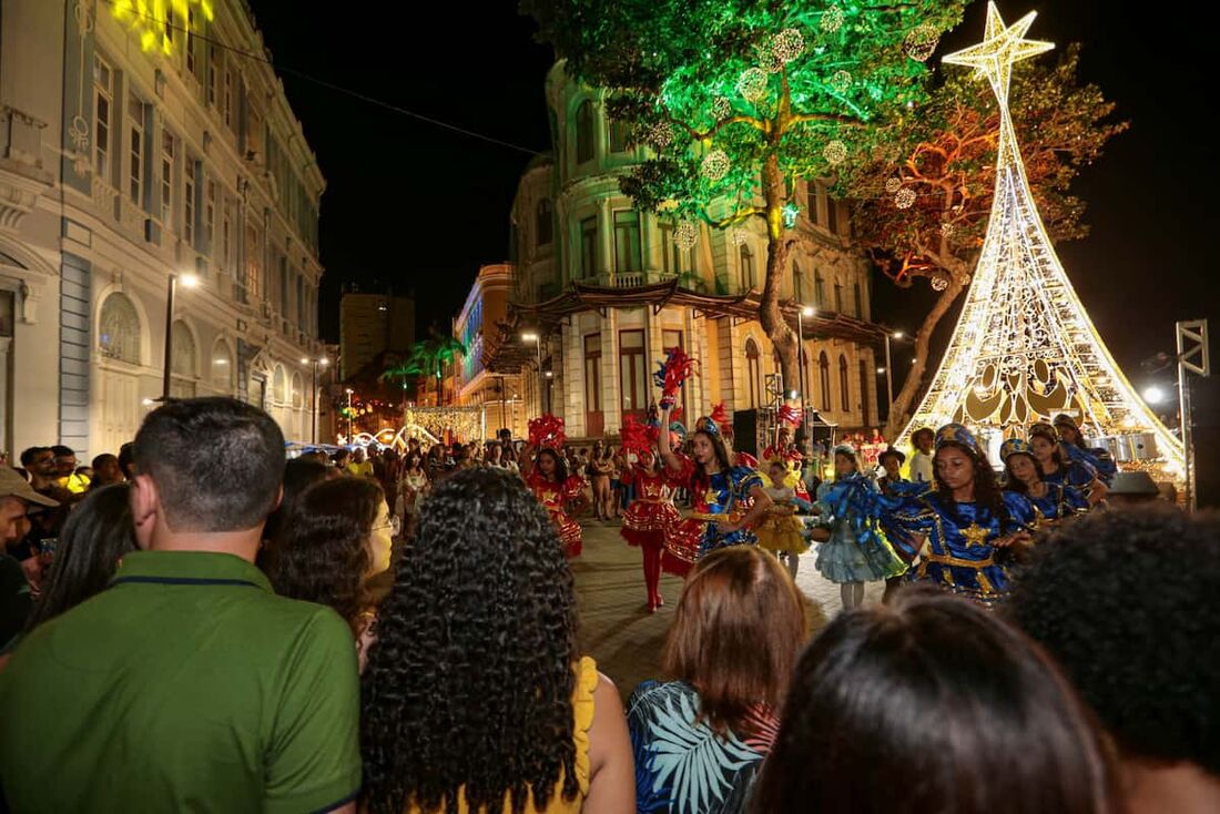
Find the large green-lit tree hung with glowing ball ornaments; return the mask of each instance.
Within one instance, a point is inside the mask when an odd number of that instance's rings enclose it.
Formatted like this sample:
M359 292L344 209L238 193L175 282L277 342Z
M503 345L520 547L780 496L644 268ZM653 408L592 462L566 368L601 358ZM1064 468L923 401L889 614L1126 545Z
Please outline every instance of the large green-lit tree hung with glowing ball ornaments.
M575 78L611 92L651 157L621 179L639 210L728 228L759 218L759 321L786 382L780 310L799 178L870 160L925 98L926 60L965 0L522 0Z

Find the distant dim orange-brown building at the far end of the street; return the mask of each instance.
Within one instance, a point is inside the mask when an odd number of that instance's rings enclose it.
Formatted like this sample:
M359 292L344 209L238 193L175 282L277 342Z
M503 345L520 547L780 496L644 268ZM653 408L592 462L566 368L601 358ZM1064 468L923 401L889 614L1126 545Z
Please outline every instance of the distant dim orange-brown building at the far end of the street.
M345 288L339 304L339 378L346 381L383 353L415 344L415 298Z

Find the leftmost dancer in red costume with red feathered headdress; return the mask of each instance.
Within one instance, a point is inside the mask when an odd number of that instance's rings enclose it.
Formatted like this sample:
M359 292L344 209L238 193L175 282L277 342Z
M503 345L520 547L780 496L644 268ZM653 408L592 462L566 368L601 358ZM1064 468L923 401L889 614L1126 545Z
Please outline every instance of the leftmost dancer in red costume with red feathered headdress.
M521 475L538 503L555 524L564 552L580 556L583 535L572 515L584 508L584 478L569 475L560 450L564 448L564 420L553 415L529 421L529 443L521 455ZM537 450L537 454L534 454Z

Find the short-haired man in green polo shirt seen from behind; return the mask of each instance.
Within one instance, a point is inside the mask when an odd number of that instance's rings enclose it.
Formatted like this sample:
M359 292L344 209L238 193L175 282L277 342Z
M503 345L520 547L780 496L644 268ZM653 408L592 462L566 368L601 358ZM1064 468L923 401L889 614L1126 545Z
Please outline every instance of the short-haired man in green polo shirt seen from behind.
M166 404L135 437L139 552L0 672L15 812L353 812L351 631L254 566L284 441L233 399ZM2 808L2 805L0 805Z

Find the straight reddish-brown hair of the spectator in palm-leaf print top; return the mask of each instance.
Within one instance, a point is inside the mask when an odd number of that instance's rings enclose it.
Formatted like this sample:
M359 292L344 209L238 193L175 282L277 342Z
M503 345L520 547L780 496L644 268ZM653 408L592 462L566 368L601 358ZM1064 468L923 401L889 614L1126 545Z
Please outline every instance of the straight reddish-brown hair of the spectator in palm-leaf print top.
M665 670L699 692L700 711L723 733L750 733L762 702L783 705L805 639L805 611L780 560L731 546L699 560L678 599Z

